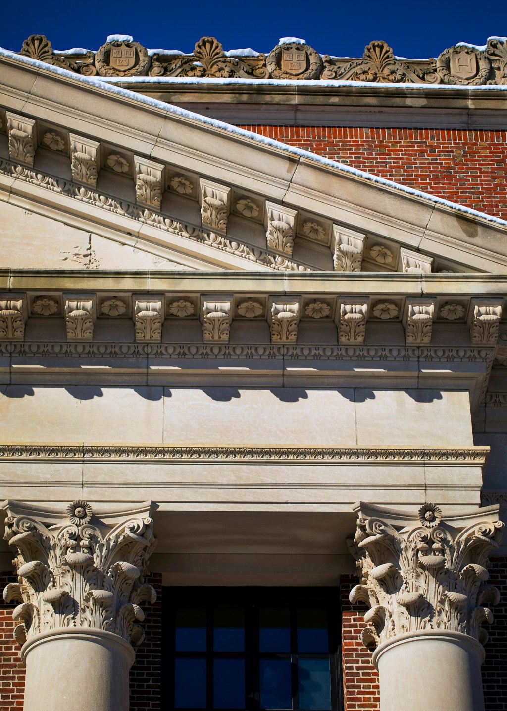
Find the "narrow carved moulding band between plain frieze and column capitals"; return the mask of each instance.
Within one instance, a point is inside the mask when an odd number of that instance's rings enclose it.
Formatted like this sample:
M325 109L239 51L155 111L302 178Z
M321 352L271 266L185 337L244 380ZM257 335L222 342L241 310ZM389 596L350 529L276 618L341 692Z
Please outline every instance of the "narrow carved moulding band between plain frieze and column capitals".
M390 466L484 466L489 447L169 447L167 445L131 444L0 444L0 461L90 461L132 462L157 461L189 464L202 461L229 464L289 463L307 464L376 464ZM118 515L117 513L115 514Z

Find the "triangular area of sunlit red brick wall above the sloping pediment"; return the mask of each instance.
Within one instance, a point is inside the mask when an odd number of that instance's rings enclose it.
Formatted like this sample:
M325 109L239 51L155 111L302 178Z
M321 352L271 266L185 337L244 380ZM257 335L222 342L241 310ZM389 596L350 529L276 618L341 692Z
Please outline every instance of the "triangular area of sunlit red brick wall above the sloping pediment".
M507 132L242 126L507 220Z

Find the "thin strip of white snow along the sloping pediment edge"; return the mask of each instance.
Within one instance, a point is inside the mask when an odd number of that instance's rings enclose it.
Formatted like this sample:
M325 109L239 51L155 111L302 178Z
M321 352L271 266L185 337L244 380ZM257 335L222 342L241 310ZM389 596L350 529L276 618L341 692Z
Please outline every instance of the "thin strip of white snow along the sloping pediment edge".
M114 84L111 84L109 82L104 82L102 80L102 77L85 77L80 74L75 74L74 72L69 72L66 69L62 69L60 67L55 67L53 65L45 64L44 62L39 62L36 59L32 59L31 57L26 57L24 55L18 55L15 52L11 52L10 50L6 50L4 48L0 47L0 56L7 57L9 59L13 59L21 64L28 64L31 67L43 70L45 72L48 72L50 74L58 74L62 77L66 77L67 79L81 82L82 84L87 84L89 86L94 86L102 91L109 92L111 94L115 94L118 96L125 97L126 99L130 99L133 101L136 101L140 104L144 104L147 106L154 107L156 109L160 109L163 111L165 114L173 114L175 116L181 116L187 119L191 119L192 121L195 121L200 124L206 124L207 126L212 126L217 129L222 129L223 131L227 131L231 134L234 134L236 136L239 136L241 138L246 138L250 139L251 141L254 141L255 143L262 143L266 146L271 146L271 148L276 148L280 151L285 151L285 153L292 154L293 156L298 156L299 158L304 158L310 161L313 161L315 163L319 163L323 166L327 166L328 168L332 168L335 170L338 170L342 173L349 173L349 175L356 176L358 178L363 178L364 180L367 180L371 183L376 183L376 185L379 186L384 186L386 188L391 188L396 191L400 191L402 193L406 193L407 195L411 195L416 198L421 198L424 201L430 202L430 203L435 203L437 205L445 205L445 207L450 208L452 210L455 210L456 212L460 213L465 213L467 215L470 215L471 217L477 217L477 218L482 218L483 220L487 220L488 222L491 223L496 223L498 225L501 225L502 227L507 228L507 220L502 220L501 218L496 218L493 215L487 215L486 213L481 213L479 210L474 210L473 208L468 208L466 205L459 205L457 203L452 203L449 200L444 200L444 198L438 198L435 195L430 195L430 193L423 193L422 191L415 190L415 188L409 188L408 186L401 185L400 183L395 183L390 180L386 180L386 178L380 178L379 176L374 176L371 173L365 173L364 171L360 171L356 168L353 168L352 166L345 165L343 163L338 163L337 161L332 161L329 160L329 158L325 158L324 156L319 156L315 153L310 153L310 151L303 151L300 148L295 148L295 146L289 146L288 144L285 143L280 143L279 141L274 141L271 138L267 138L266 136L261 136L261 134L256 134L251 131L245 131L244 129L240 129L237 126L232 126L231 124L226 124L223 121L217 121L217 119L211 119L207 116L202 116L201 114L195 114L194 112L187 111L187 109L182 109L179 106L173 106L171 104L166 104L165 102L159 101L158 99L153 99L152 97L144 96L142 94L138 94L137 92L129 91L127 89L122 89L121 87L117 87ZM139 77L143 80L146 80L146 77ZM131 80L131 77L129 77L129 80ZM185 80L187 81L187 80ZM214 80L216 82L222 82L223 80ZM242 80L238 80L240 83ZM298 83L298 82L296 82ZM337 84L339 82L334 82L334 84ZM341 82L347 83L347 82ZM352 85L357 82L348 82ZM317 82L317 84L321 84L322 82ZM371 86L376 86L378 87L378 84L371 84ZM421 85L427 88L427 85ZM456 88L456 87L454 87ZM477 87L474 87L477 88ZM488 87L491 88L491 87ZM500 87L493 87L493 88L500 88ZM503 87L504 89L507 89L507 86Z

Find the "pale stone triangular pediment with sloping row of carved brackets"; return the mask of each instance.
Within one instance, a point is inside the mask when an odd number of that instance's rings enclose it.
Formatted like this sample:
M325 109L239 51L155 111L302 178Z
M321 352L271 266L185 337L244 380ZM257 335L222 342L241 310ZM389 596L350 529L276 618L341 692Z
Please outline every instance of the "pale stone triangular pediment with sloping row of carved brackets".
M53 268L507 272L501 220L99 80L0 63L8 265L16 244L43 244ZM62 257L74 237L88 263Z

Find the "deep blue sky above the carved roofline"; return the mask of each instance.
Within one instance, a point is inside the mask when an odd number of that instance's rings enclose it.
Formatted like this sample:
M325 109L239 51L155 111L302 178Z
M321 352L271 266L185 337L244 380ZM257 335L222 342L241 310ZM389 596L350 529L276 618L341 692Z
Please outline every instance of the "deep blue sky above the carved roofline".
M96 50L112 33L131 34L148 48L190 53L202 36L224 49L252 47L269 52L278 38L304 38L322 54L361 56L376 39L395 54L436 57L459 41L484 44L507 35L507 4L452 0L447 3L372 0L137 0L83 3L28 0L5 4L0 46L19 50L34 33L45 34L53 48Z

